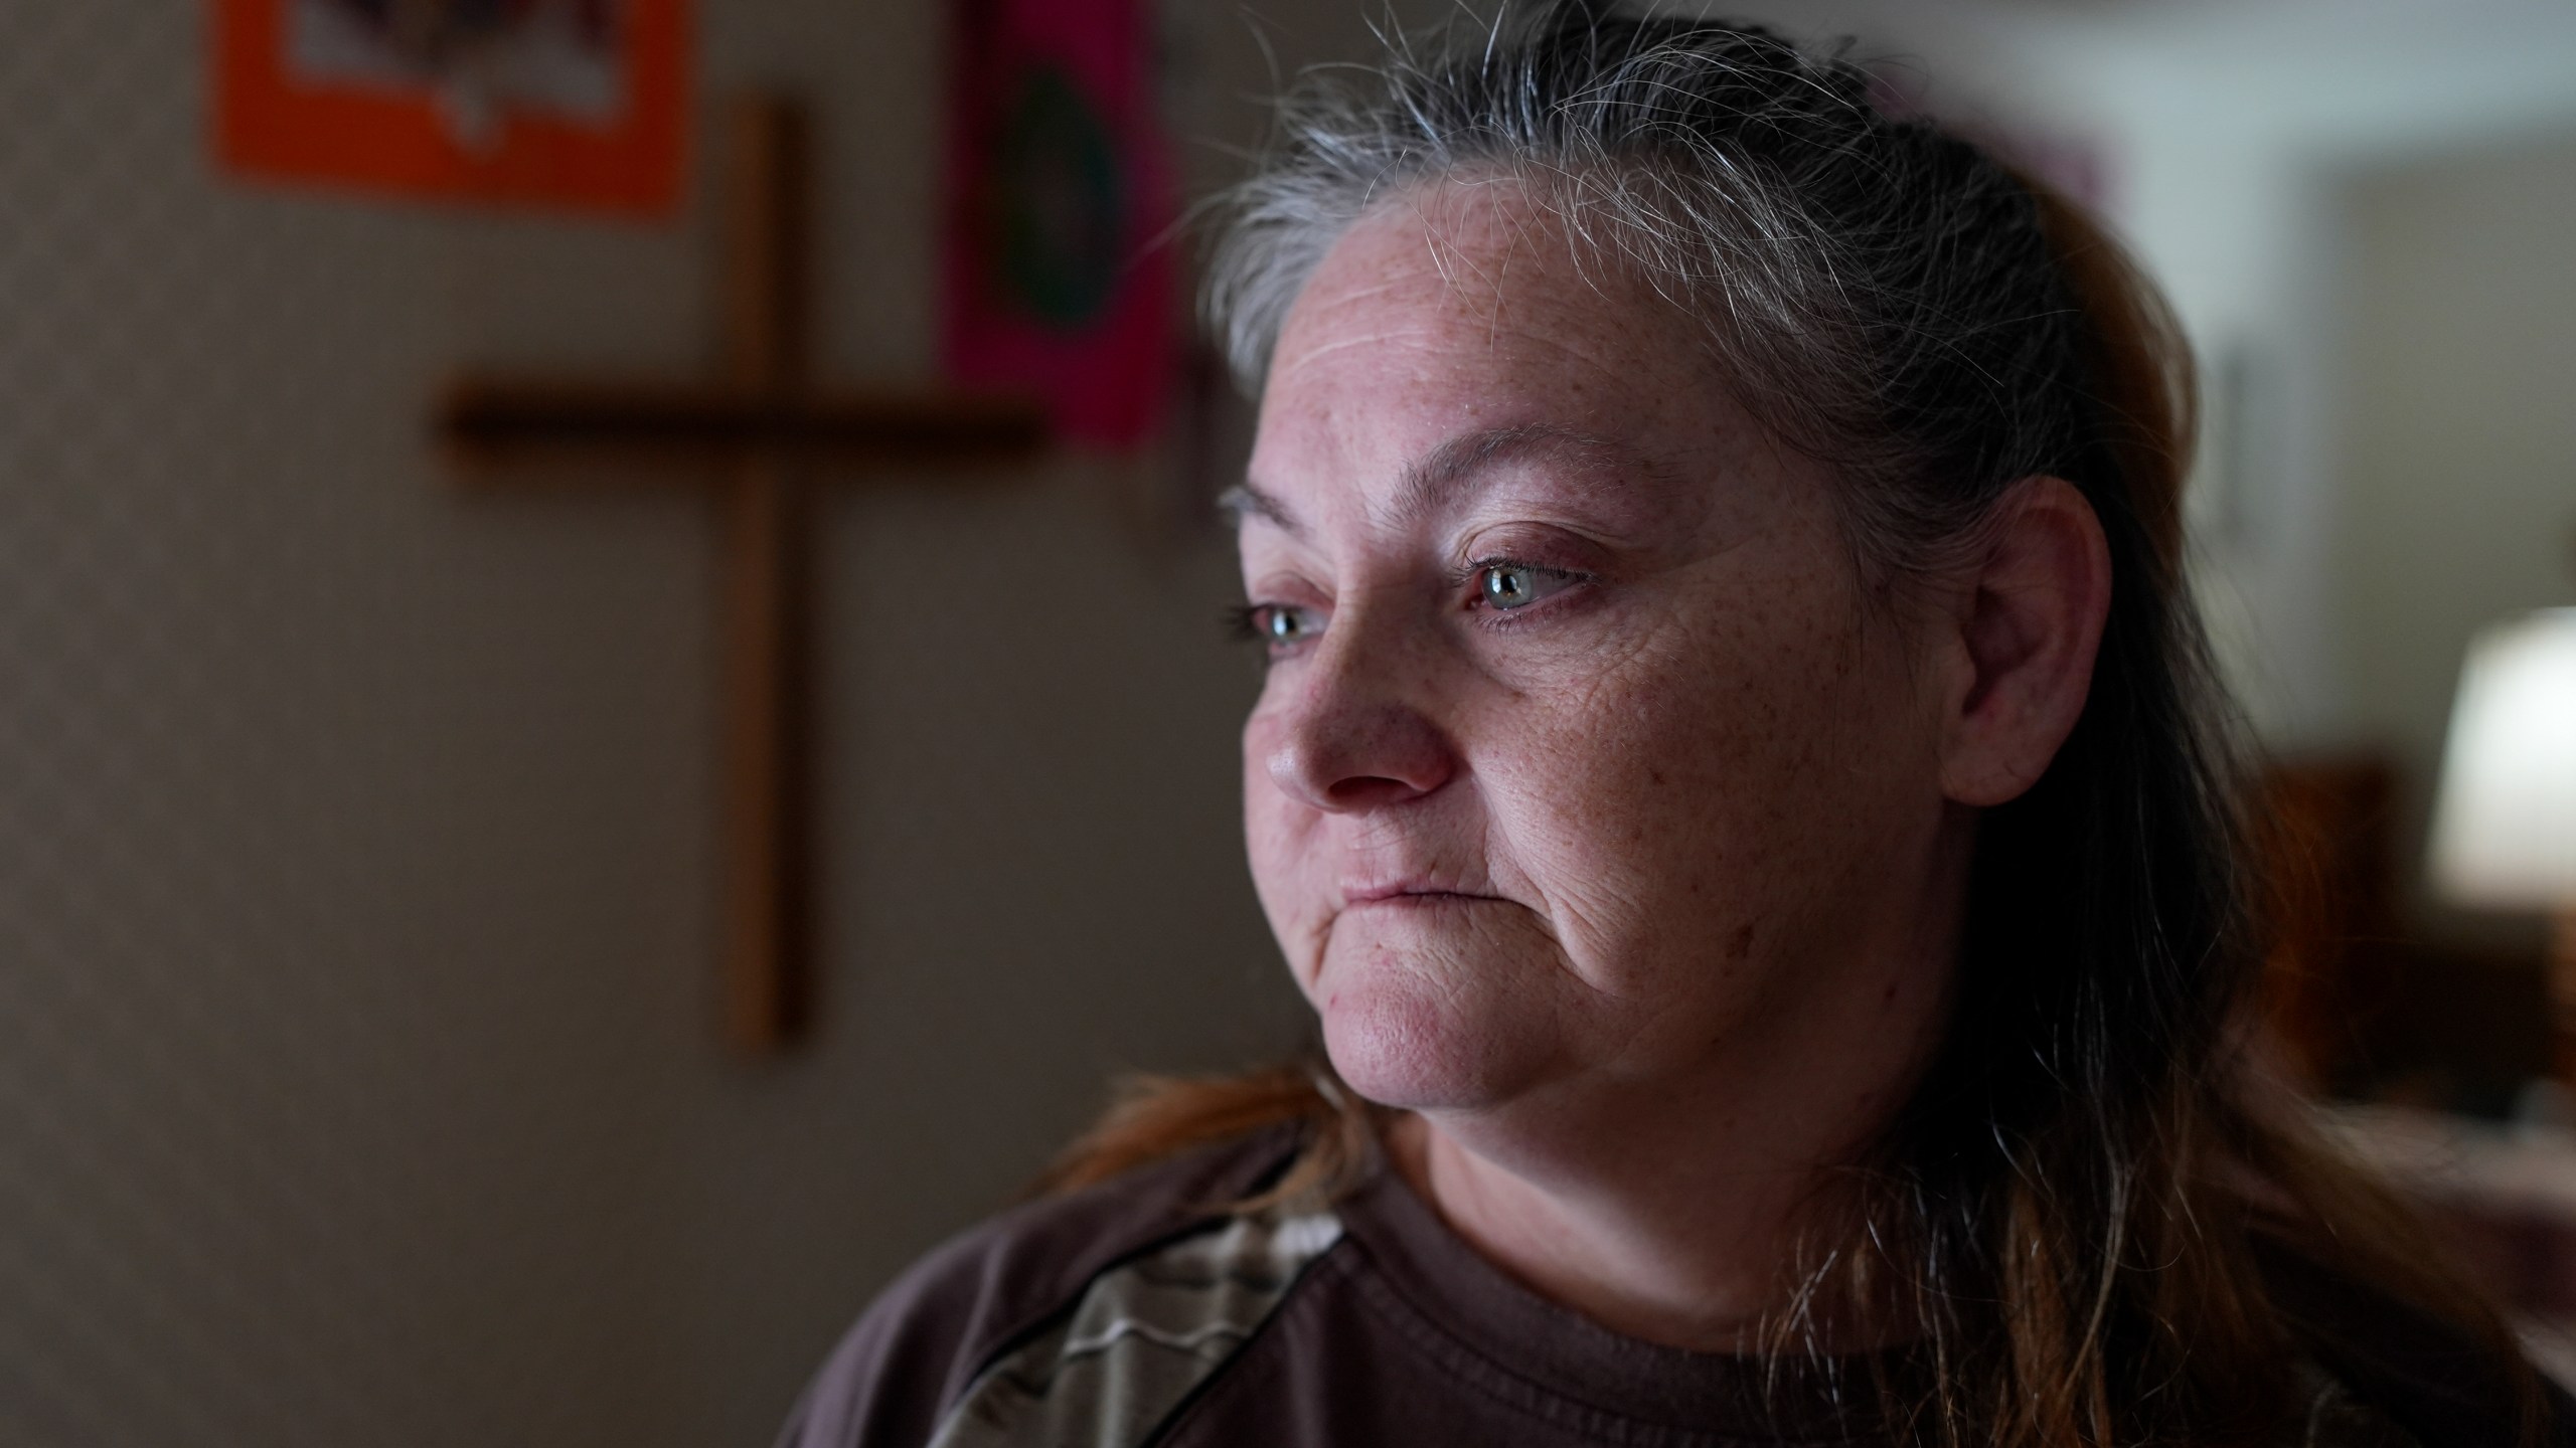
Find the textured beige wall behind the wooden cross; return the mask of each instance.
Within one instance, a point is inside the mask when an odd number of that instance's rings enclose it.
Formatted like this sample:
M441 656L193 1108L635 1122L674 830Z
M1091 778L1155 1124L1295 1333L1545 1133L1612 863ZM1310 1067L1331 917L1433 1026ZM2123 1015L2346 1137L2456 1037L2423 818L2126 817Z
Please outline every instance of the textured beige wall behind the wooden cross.
M943 8L698 13L714 90L822 103L824 363L925 376ZM711 518L422 446L461 363L701 363L701 219L237 186L201 23L0 44L0 1440L762 1440L1110 1069L1296 1038L1229 559L1115 466L840 495L822 1036L726 1059Z

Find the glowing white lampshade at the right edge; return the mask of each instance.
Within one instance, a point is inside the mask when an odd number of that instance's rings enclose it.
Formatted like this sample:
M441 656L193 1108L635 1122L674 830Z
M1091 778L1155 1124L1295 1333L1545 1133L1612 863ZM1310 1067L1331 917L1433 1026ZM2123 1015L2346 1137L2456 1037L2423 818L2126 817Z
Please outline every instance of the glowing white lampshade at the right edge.
M2468 647L2432 879L2463 904L2576 910L2576 608L2491 624Z

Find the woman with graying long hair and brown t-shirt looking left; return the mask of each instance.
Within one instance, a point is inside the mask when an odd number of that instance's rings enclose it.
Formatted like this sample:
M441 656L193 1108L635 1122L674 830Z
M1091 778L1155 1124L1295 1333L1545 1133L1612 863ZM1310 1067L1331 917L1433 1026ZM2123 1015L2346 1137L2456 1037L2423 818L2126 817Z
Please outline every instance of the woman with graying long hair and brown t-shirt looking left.
M1757 28L1378 80L1211 289L1329 1064L1128 1103L788 1440L2563 1433L2249 1062L2187 358L2117 250Z

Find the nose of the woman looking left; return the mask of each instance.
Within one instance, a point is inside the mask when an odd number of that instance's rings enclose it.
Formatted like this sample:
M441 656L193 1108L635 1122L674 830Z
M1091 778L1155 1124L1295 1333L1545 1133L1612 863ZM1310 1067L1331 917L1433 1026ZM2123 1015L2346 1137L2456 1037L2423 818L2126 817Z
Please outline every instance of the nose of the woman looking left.
M1340 621L1337 621L1340 624ZM1412 688L1406 688L1406 675ZM1406 693L1422 688L1394 649L1350 631L1316 644L1291 698L1273 706L1270 781L1332 814L1422 799L1458 776L1458 750Z

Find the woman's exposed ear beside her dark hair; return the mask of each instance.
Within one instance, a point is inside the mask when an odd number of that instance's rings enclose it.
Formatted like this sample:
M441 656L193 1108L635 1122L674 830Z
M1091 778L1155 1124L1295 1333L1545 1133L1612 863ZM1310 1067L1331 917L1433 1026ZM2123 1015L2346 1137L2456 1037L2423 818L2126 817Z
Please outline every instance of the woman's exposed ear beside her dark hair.
M2074 732L2110 613L2110 546L2061 477L2025 477L1945 624L1942 794L2004 804L2038 783Z

